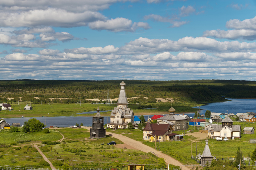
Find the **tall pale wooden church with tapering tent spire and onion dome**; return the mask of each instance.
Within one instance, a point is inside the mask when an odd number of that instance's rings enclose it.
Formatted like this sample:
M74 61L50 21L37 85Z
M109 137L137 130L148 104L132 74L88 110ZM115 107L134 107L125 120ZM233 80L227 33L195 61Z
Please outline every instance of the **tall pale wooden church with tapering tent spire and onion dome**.
M115 107L110 114L110 123L107 123L107 128L120 128L125 129L128 123L137 126L134 123L134 113L131 108L128 108L128 101L125 93L124 80L120 83L121 90L117 101L117 107Z

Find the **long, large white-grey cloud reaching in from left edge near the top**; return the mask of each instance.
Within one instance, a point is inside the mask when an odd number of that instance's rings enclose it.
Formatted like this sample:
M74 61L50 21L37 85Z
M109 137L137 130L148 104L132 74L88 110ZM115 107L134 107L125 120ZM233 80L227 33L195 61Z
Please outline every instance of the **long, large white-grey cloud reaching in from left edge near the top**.
M0 12L0 26L33 27L33 26L86 26L88 23L105 20L98 12L85 11L72 13L63 9L30 10L16 13Z

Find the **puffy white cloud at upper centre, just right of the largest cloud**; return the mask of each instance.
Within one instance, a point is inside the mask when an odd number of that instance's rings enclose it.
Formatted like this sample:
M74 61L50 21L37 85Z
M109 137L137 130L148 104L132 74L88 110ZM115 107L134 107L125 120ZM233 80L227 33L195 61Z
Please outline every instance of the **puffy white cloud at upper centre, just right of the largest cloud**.
M148 23L133 23L132 21L126 18L116 18L110 19L106 21L95 21L88 24L91 29L96 30L109 30L113 32L120 32L120 31L129 31L133 32L139 28L142 29L149 29Z

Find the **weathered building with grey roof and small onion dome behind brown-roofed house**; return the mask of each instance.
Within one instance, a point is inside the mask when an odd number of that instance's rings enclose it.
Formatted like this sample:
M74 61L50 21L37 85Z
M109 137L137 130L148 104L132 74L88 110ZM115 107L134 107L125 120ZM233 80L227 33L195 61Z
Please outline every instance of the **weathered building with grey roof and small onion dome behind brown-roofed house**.
M172 125L172 128L174 131L187 130L188 129L187 118L175 115L174 114L175 111L176 110L173 108L173 105L172 105L172 107L169 109L170 114L156 119L157 123L163 120L166 120L174 124Z

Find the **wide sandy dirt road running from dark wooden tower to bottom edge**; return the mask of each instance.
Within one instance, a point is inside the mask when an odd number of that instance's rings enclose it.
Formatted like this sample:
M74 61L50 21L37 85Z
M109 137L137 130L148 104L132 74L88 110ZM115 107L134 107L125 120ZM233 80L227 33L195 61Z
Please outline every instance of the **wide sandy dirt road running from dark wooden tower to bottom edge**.
M90 127L87 127L88 130L90 130ZM160 151L157 151L147 145L142 144L139 141L133 140L129 137L123 136L123 135L119 135L116 133L112 133L112 132L106 132L106 135L115 137L116 139L119 139L120 141L124 142L126 145L130 146L131 148L134 148L136 150L141 150L143 152L154 152L156 155L158 155L159 157L162 157L165 159L166 164L172 164L172 165L178 165L180 167L182 167L182 170L189 170L189 168L185 165L183 165L182 163L180 163L179 161L173 159L172 157L170 157L169 155L163 154Z

